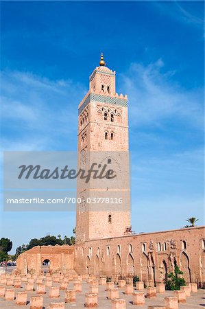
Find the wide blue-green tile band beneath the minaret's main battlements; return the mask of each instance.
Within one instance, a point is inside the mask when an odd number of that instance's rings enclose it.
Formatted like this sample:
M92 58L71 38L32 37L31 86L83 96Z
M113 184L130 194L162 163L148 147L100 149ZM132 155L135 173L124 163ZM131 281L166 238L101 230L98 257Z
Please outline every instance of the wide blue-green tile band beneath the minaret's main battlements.
M114 98L114 97L109 97L108 95L100 95L97 93L90 93L88 95L88 98L84 100L82 106L78 109L78 115L82 112L82 110L90 103L91 101L95 102L102 102L102 103L108 103L108 104L116 104L119 106L128 106L128 100L126 99L121 99L121 98Z

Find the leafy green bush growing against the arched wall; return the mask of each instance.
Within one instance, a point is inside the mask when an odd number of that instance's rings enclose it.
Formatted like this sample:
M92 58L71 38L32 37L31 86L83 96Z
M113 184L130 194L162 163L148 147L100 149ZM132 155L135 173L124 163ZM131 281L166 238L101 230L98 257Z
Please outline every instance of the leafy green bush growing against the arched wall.
M183 272L180 271L180 268L176 265L174 273L168 273L167 279L165 279L166 290L180 290L180 286L186 285L184 278L178 277L179 275L183 275Z

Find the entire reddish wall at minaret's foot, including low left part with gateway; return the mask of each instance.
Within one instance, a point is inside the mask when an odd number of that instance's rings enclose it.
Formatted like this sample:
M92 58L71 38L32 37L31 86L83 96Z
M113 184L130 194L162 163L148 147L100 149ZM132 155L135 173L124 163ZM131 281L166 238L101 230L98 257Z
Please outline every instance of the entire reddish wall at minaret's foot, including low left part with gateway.
M204 227L90 240L74 246L34 247L19 255L16 272L132 277L164 282L177 264L186 282L205 284Z

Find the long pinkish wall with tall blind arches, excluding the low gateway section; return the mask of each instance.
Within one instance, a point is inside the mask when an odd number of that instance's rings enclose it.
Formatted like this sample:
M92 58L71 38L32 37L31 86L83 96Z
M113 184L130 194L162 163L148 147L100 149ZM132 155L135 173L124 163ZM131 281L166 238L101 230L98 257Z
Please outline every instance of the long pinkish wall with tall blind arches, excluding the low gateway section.
M186 282L205 282L205 228L193 227L122 238L87 241L75 246L80 274L138 275L149 286L163 282L177 264Z

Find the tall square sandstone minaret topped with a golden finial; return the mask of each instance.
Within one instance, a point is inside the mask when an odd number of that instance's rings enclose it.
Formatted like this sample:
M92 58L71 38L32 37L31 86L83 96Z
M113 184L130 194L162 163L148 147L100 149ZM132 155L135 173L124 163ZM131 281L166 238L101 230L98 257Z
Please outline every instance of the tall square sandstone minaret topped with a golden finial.
M104 163L117 162L116 153L128 155L128 97L115 92L115 71L106 67L101 54L99 67L90 76L88 93L78 107L78 165L82 167L84 157L93 152L104 155ZM113 153L113 155L112 155ZM77 203L76 209L76 242L96 238L124 236L130 231L130 187L129 187L129 157L123 159L128 180L118 190L111 191L104 187L96 190L92 183L84 190L77 185L77 197L82 203ZM117 163L116 163L116 166ZM125 179L123 169L118 167L121 178ZM123 196L119 209L109 209L109 205L98 205L91 209L86 203L88 197ZM111 204L110 204L111 206ZM116 206L116 205L115 205ZM101 207L101 208L100 208Z

